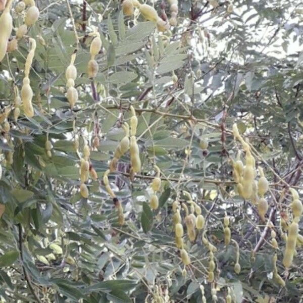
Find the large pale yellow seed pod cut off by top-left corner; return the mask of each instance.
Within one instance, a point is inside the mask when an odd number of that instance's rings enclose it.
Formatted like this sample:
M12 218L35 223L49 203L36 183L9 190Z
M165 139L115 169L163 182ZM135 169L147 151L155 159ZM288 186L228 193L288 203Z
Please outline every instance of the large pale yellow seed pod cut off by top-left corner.
M7 52L7 44L13 30L13 18L10 14L12 1L9 1L2 15L0 16L0 62Z

